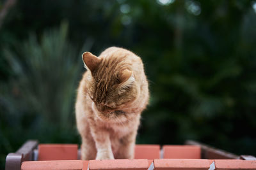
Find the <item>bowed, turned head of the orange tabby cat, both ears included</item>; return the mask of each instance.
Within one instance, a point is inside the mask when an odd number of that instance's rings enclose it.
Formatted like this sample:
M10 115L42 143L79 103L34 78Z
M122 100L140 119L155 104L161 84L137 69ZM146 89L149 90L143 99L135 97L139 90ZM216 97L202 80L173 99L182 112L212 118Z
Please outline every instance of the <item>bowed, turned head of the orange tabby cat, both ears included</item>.
M95 108L104 117L125 114L125 108L138 97L139 88L131 66L125 57L99 58L90 52L83 53L86 69L90 71L86 89ZM122 110L123 109L123 110Z

